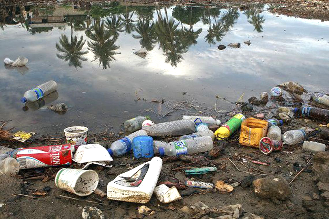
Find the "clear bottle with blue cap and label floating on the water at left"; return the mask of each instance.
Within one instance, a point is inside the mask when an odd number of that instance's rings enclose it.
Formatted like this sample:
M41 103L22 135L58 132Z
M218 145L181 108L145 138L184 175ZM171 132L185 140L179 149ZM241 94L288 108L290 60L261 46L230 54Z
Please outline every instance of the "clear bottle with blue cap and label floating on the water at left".
M34 102L56 90L57 83L53 80L47 81L32 90L26 91L24 97L21 99L21 102Z

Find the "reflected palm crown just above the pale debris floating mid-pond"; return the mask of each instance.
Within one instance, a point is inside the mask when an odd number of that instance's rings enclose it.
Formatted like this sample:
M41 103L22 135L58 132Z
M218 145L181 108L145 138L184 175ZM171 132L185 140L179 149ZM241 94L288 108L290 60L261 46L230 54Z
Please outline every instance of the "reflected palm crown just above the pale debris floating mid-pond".
M135 31L138 35L133 34L135 39L140 39L139 43L142 48L145 47L147 51L150 51L154 48L154 43L157 42L156 35L154 33L154 23L150 21L139 20L137 22Z

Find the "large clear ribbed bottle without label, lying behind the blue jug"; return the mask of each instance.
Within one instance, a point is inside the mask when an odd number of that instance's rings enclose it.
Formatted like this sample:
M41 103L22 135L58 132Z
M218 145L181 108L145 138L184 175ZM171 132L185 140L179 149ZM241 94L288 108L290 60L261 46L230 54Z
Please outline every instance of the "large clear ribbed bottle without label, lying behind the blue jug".
M180 136L195 132L192 120L175 120L144 126L142 130L149 136Z

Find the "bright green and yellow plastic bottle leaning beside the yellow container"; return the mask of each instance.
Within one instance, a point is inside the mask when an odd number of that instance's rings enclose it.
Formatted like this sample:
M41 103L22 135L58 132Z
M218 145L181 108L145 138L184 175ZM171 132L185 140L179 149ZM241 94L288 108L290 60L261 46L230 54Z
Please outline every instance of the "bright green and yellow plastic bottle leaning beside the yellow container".
M238 113L215 131L215 137L218 140L230 137L233 132L240 128L243 120L245 120L245 116Z

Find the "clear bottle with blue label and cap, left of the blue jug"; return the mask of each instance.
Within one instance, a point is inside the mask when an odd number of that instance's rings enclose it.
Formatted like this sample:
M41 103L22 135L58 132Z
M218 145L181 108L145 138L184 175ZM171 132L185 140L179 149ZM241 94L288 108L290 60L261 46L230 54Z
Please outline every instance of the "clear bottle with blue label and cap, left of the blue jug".
M130 135L113 142L107 151L111 156L120 156L125 154L132 149L133 139L142 135L147 135L147 133L144 130L138 130L137 132L131 133Z

